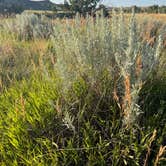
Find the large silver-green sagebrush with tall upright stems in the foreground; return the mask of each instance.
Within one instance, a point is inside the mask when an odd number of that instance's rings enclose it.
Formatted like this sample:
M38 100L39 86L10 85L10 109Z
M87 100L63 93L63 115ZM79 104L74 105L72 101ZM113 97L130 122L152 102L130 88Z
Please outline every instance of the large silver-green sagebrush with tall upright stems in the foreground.
M134 12L129 23L124 22L123 11L120 17L113 11L111 23L102 16L87 16L83 26L81 19L77 15L73 25L54 28L55 68L65 80L69 78L67 84L79 76L93 84L107 70L117 82L114 93L124 111L124 124L134 123L141 113L139 91L159 63L162 36L153 48L143 42Z

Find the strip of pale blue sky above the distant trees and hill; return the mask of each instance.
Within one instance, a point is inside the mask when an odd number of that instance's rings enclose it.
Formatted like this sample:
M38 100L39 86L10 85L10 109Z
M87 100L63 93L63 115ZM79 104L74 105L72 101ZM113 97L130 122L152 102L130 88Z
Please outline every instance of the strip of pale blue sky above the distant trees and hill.
M55 3L63 3L64 0L51 0ZM103 0L105 5L109 6L148 6L148 5L166 5L166 0Z

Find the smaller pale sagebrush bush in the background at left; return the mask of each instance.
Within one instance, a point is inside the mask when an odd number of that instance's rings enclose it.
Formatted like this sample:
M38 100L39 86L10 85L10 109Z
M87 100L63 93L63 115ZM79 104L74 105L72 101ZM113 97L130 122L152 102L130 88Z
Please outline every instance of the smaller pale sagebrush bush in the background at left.
M52 34L52 24L46 16L39 17L26 12L16 15L13 20L7 20L4 26L20 40L49 38Z

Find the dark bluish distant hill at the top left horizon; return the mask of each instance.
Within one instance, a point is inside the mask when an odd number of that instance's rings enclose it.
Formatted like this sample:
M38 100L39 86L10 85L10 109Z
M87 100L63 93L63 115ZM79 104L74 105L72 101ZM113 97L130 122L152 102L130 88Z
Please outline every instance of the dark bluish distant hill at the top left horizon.
M0 0L0 13L20 10L51 10L55 4L49 0Z

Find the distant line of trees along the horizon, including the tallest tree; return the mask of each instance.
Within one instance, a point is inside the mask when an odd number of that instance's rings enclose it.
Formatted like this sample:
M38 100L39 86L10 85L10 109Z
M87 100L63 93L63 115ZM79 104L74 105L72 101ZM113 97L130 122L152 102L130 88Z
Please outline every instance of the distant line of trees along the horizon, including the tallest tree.
M112 10L112 7L106 7L103 4L99 5L101 0L64 0L64 4L53 6L53 11L71 11L74 13L80 13L86 15L87 13L91 14L97 10L102 9L106 15L108 11ZM166 13L166 6L153 5L148 7L124 7L123 10L126 13L131 13L134 8L136 13ZM115 10L119 8L115 8Z

